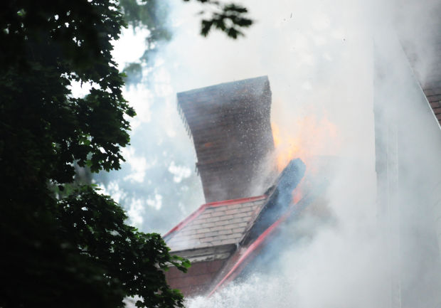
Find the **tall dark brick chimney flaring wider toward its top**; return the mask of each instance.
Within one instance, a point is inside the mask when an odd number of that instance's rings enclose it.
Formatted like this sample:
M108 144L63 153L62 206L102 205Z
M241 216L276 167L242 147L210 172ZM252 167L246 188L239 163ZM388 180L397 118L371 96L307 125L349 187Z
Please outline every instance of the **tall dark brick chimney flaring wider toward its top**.
M274 149L267 76L178 93L193 137L206 202L252 196L253 179Z

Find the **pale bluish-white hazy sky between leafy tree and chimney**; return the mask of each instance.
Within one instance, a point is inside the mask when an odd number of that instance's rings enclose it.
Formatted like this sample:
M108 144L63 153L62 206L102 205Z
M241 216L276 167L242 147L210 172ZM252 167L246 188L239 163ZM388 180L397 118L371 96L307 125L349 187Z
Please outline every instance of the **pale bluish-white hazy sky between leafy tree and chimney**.
M112 51L120 70L139 60L147 34L145 29L123 29ZM204 202L193 144L176 109L176 84L181 80L171 78L183 59L165 59L161 53L166 48L159 50L149 63L153 73L123 91L137 112L129 119L130 144L122 148L126 161L120 170L94 175L93 181L127 211L128 223L144 232L164 234ZM87 85L73 86L74 95L88 90Z

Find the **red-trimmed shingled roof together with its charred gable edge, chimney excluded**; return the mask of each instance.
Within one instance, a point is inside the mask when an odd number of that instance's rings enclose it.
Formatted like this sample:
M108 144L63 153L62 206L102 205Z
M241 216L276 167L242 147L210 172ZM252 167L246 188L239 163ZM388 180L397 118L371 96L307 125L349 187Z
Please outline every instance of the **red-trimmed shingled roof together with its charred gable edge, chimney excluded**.
M172 253L196 265L191 275L169 274L174 287L191 283L186 292L194 295L217 290L233 280L278 225L304 207L295 206L292 195L304 171L303 162L293 159L268 190L268 196L204 204L164 235ZM216 270L202 270L203 262L215 260L222 262Z

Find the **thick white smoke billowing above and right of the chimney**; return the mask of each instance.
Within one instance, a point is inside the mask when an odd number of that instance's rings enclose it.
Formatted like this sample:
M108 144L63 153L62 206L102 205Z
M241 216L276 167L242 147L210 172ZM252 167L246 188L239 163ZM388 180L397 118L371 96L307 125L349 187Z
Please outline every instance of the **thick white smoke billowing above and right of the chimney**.
M304 213L260 255L270 262L188 307L439 307L441 135L418 85L437 60L426 21L439 1L243 4L255 26L228 41L198 36L198 6L176 2L162 55L173 89L268 75L272 122L339 159L315 174L329 181L324 217ZM307 118L333 123L338 140L296 125Z

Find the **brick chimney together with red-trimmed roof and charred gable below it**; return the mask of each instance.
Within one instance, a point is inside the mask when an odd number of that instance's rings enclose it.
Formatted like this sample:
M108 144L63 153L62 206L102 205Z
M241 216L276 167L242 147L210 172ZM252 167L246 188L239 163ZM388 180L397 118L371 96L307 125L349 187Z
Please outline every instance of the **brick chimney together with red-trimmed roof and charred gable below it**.
M186 295L209 294L240 276L277 226L313 198L300 196L308 182L302 160L277 176L266 76L181 92L178 105L207 203L164 235L171 253L192 263L166 277Z

